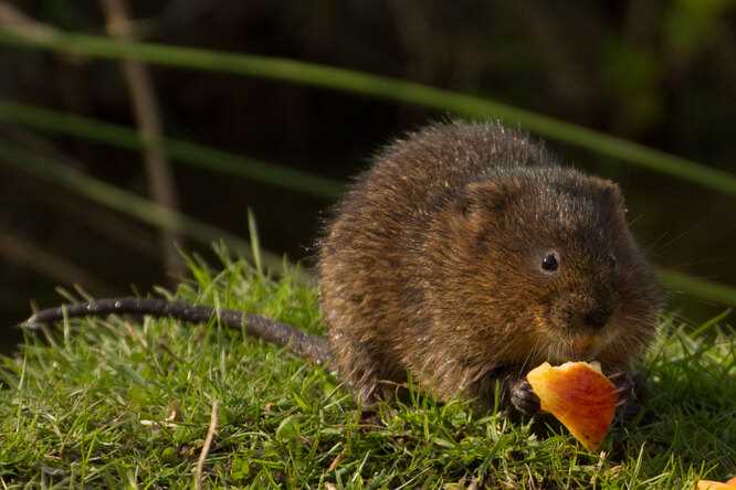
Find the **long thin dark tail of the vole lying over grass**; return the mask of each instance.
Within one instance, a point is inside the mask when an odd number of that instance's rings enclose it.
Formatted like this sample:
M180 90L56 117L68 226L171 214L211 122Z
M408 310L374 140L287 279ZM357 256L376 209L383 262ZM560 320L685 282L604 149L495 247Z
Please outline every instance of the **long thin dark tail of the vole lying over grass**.
M236 310L194 306L183 301L167 301L156 298L105 298L59 308L41 310L21 323L36 330L64 318L104 317L107 315L147 315L155 318L172 318L189 323L204 323L217 318L222 324L240 329L276 345L285 347L296 354L318 364L329 364L327 341L320 335L311 335L292 326L280 323L260 315Z

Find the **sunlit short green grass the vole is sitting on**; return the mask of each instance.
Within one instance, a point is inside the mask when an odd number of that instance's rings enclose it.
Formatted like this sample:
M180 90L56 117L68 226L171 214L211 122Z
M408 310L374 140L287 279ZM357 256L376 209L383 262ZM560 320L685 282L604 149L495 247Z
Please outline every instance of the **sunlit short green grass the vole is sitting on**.
M176 296L312 332L317 294L222 255ZM414 395L366 419L324 369L242 332L170 320L67 321L0 366L3 488L694 488L736 473L736 337L663 321L645 360L652 416L590 454L548 419ZM690 333L688 333L690 332Z

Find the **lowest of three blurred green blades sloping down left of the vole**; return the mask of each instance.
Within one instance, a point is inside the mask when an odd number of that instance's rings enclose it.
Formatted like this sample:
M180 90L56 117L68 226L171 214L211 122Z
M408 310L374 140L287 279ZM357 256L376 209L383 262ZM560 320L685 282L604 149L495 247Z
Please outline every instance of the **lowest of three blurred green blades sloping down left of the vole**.
M25 172L69 189L80 195L122 212L136 220L164 230L179 230L186 236L204 244L222 239L229 247L245 257L253 258L251 245L243 238L223 230L210 226L193 217L170 211L153 201L140 198L93 179L63 163L40 157L18 146L0 141L0 158ZM277 255L260 251L264 264L274 270L283 268L283 260Z

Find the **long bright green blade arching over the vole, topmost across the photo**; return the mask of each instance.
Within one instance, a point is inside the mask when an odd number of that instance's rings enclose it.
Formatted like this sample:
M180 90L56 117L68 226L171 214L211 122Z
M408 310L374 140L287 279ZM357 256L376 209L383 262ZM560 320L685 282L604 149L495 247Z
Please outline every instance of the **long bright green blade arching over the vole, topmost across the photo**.
M496 117L511 124L518 124L529 131L551 139L587 148L601 155L667 173L687 182L736 195L736 177L728 172L553 117L417 83L294 60L219 53L154 43L119 43L104 36L60 31L48 35L27 36L12 28L3 28L0 29L0 43L51 50L72 55L113 60L134 58L166 66L282 79L302 85L326 87L414 104L472 118Z

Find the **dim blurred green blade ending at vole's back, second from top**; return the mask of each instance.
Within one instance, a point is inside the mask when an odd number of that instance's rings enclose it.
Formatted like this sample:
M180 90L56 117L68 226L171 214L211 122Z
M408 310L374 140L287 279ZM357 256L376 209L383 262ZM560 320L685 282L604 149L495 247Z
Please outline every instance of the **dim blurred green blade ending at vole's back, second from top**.
M0 120L132 150L140 150L143 148L143 140L138 131L134 129L70 113L0 102ZM177 162L323 199L335 199L343 192L343 183L338 180L323 178L275 163L240 157L181 139L167 138L160 142L169 157Z

